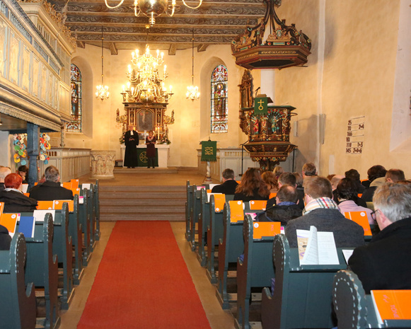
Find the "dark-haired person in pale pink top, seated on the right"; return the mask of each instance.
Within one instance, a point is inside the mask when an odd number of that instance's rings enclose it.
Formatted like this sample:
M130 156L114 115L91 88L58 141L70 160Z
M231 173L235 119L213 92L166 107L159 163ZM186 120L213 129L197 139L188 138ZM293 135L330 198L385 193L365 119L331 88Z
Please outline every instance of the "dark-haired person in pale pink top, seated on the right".
M338 197L338 208L340 212L344 214L345 212L365 212L369 221L369 224L376 224L373 219L372 210L364 207L358 206L354 202L354 197L357 196L356 185L352 180L347 178L342 178L340 183L337 185L337 197Z

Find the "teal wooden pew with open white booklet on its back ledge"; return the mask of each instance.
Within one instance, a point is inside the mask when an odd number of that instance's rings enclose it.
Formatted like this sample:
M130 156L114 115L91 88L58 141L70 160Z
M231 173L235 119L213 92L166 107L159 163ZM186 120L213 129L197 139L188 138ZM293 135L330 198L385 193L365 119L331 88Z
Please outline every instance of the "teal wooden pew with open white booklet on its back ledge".
M338 270L347 268L342 248L337 253L339 265L300 265L298 248L289 248L284 234L275 236L275 287L273 295L269 288L262 291L262 328L334 327L332 279Z

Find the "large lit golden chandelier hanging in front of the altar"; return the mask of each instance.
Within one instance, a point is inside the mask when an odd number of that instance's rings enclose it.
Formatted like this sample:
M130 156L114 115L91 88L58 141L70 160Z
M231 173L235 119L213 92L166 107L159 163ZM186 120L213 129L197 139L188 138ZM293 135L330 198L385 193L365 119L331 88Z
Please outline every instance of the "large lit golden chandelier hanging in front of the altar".
M163 67L160 74L158 67L163 62L163 52L157 50L157 56L150 53L150 47L146 45L146 52L139 54L139 50L132 52L132 65L127 70L127 88L122 86L123 102L128 103L167 103L173 96L172 87L167 92L164 81L167 79L167 66Z

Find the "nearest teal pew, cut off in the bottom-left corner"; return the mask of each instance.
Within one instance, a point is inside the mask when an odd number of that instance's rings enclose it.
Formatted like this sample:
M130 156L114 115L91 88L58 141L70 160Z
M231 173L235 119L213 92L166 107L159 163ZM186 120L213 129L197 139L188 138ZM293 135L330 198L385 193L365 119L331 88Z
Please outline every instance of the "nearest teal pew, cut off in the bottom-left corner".
M33 282L24 282L25 239L16 233L10 250L0 250L0 329L34 329L36 300Z

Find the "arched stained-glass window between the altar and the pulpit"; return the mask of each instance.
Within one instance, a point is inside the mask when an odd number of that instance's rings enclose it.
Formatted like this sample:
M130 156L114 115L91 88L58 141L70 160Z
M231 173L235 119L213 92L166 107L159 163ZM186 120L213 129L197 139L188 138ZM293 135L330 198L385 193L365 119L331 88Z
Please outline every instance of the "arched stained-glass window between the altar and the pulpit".
M224 65L212 73L211 132L228 132L228 71Z

